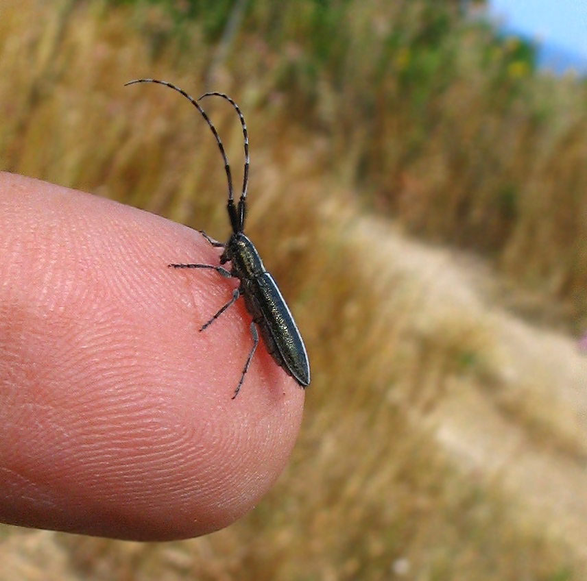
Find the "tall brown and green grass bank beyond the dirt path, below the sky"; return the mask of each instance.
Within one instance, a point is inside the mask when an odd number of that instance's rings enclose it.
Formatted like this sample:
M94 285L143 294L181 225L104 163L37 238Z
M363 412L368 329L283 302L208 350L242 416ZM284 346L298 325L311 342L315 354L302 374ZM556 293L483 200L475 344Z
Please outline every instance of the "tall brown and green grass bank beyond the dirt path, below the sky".
M568 328L585 326L584 83L538 77L528 45L456 2L336 3L324 16L308 1L272 27L270 3L252 4L252 27L281 55L266 82L331 137L329 161L363 199L482 251L540 310L558 302Z

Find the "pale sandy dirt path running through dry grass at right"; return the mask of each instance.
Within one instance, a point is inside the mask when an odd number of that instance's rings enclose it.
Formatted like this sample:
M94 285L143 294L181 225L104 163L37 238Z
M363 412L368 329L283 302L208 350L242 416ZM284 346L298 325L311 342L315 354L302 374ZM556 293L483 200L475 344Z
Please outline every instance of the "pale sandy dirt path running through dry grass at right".
M475 260L406 240L385 223L358 228L370 245L384 240L396 274L420 281L430 313L460 312L492 338L494 385L447 390L433 415L438 443L587 564L587 356L577 341L507 312Z

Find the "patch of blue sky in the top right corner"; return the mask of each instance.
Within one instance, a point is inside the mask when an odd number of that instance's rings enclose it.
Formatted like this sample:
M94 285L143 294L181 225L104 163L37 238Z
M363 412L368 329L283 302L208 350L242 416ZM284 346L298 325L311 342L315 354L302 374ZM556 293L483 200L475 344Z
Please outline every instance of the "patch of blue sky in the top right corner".
M503 25L587 58L587 0L489 0Z

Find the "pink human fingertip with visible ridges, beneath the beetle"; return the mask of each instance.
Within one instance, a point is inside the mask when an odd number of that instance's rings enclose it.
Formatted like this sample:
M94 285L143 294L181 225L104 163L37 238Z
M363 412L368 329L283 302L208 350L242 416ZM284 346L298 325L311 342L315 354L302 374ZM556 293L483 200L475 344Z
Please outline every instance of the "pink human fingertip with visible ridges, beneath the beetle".
M0 521L162 541L232 523L296 440L304 390L194 230L0 173Z

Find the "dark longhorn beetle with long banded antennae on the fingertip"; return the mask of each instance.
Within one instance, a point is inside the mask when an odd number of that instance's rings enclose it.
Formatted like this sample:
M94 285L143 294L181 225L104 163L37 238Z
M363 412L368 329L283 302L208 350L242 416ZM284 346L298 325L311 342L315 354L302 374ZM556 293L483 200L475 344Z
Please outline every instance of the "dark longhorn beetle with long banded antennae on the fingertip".
M134 81L126 83L126 85L132 85L135 83L156 83L165 85L181 93L181 95L188 99L200 112L202 117L204 117L206 123L208 123L208 127L210 127L216 138L220 153L222 154L222 159L224 160L224 169L226 170L226 177L228 179L228 217L230 218L230 225L232 226L232 234L230 234L228 242L221 243L213 240L208 234L206 234L206 232L200 230L200 234L202 234L202 236L204 236L213 247L224 249L220 256L220 265L169 264L168 266L174 269L213 269L226 278L235 277L240 281L239 287L232 291L232 298L230 301L221 307L219 311L200 328L200 331L208 328L226 309L228 309L228 307L235 304L241 295L245 299L245 306L253 319L250 325L253 346L245 362L245 367L243 367L241 379L239 380L235 394L232 395L232 399L237 397L241 386L243 385L243 381L245 380L245 375L251 364L255 349L257 345L259 345L259 333L257 332L257 327L259 327L259 331L261 331L261 337L263 338L267 352L272 358L274 358L275 362L280 367L283 367L285 372L288 375L291 375L300 386L308 386L310 383L310 364L306 353L306 347L304 347L304 341L302 341L302 336L298 331L296 323L293 321L293 317L291 316L291 312L289 312L289 308L287 308L287 304L285 304L283 296L277 288L275 280L272 275L265 270L259 252L256 251L253 243L243 232L249 181L249 137L245 118L243 117L239 106L235 101L228 97L228 95L225 95L222 92L206 92L198 99L193 99L193 97L188 95L183 89L166 81L159 81L157 79L135 79ZM235 206L235 201L233 199L232 175L230 173L226 151L224 151L224 145L222 145L218 132L212 121L210 121L206 112L197 102L204 99L204 97L211 96L226 99L226 101L228 101L239 114L239 119L241 120L241 125L243 127L245 169L243 174L243 190L238 206ZM222 264L226 264L226 262L230 262L230 270L221 266Z

